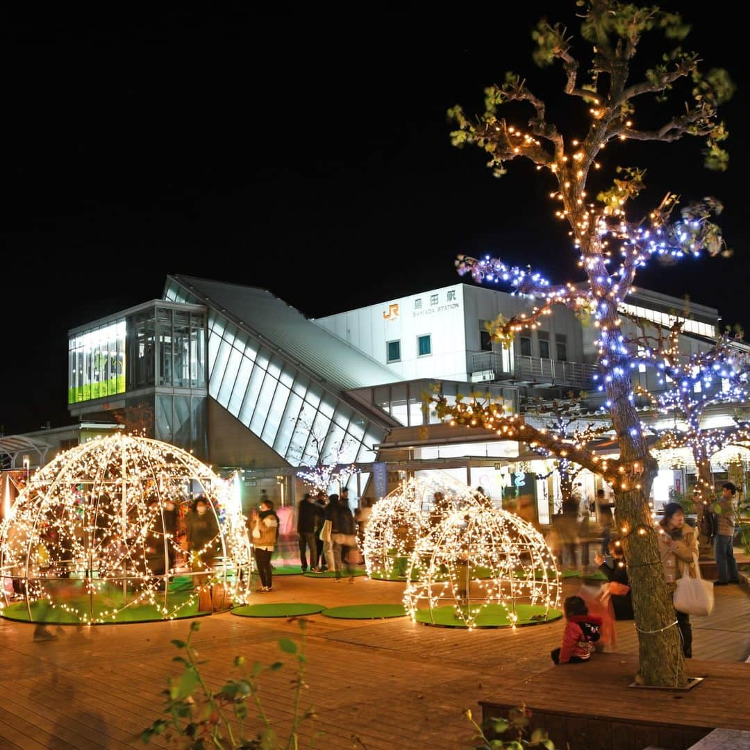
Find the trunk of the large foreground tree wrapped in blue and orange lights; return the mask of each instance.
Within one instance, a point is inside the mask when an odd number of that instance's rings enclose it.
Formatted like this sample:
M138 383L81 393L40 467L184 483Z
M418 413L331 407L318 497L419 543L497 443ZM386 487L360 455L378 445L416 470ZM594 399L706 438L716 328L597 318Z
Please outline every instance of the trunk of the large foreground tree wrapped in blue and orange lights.
M649 493L658 465L649 454L640 429L640 416L635 410L628 353L622 345L616 302L610 301L610 288L605 282L610 277L601 248L592 244L584 255L591 260L586 272L599 299L600 366L604 373L607 408L617 434L620 460L628 463L628 469L619 475L613 489L616 523L622 535L633 595L640 679L646 685L677 687L687 681L685 664L672 592L664 579L657 532L649 508Z

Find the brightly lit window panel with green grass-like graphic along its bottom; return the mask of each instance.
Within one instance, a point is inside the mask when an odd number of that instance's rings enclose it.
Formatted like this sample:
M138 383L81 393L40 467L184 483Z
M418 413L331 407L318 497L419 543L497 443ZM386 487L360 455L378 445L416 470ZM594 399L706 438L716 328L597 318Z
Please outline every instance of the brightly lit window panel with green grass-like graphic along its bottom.
M68 338L68 404L125 392L125 319Z

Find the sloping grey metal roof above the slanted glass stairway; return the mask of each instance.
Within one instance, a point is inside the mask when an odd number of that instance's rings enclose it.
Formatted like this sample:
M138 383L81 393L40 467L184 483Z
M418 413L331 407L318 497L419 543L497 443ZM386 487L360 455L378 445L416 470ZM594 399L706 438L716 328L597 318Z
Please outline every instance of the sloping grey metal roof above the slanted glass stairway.
M266 338L339 392L403 380L268 290L223 281L170 275L193 296Z

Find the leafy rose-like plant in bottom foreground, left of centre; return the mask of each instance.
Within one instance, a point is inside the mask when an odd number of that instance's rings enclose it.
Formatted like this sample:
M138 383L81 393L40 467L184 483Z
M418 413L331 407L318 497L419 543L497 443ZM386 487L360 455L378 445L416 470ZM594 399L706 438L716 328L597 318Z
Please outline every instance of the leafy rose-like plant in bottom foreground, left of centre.
M182 653L172 661L183 664L184 670L178 678L169 680L169 688L163 691L164 713L167 718L159 718L150 727L143 730L140 738L148 744L154 736L165 736L169 743L178 748L202 750L202 748L248 748L248 750L299 750L299 726L308 718L315 716L312 706L304 712L300 709L302 690L307 688L305 682L305 627L307 622L299 619L301 637L299 643L291 638L281 638L278 646L284 653L296 658L297 673L294 685L293 715L289 739L281 742L272 726L269 716L263 709L260 700L259 677L263 672L275 672L284 666L281 661L274 661L263 666L256 661L251 669L245 666L245 658L236 656L234 666L239 671L238 679L230 679L218 691L212 691L205 682L199 666L205 661L197 660L193 647L193 634L200 628L199 622L190 623L187 640L172 640ZM245 736L245 722L248 719L248 703L253 703L261 729L257 735L248 739ZM314 736L314 740L320 733Z

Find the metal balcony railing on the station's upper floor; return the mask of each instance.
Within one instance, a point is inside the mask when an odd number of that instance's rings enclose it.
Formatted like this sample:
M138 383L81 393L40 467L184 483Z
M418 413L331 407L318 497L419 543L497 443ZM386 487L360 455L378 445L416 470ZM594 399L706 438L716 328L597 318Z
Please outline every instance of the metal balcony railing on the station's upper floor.
M540 384L553 383L577 388L591 388L594 383L596 366L585 362L562 362L559 359L517 354L513 358L513 371L508 372L507 359L499 352L475 354L472 358L472 380L533 380Z

